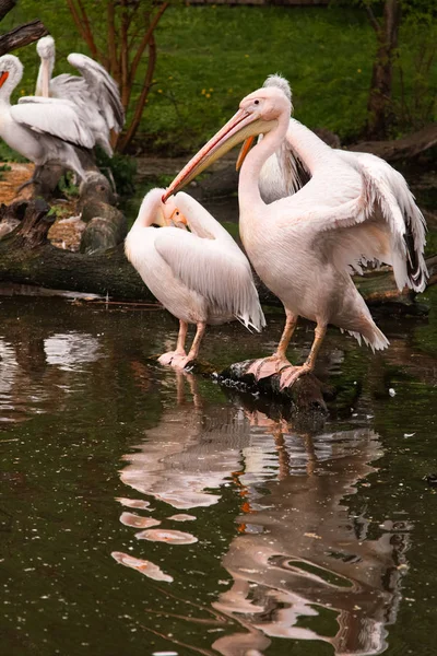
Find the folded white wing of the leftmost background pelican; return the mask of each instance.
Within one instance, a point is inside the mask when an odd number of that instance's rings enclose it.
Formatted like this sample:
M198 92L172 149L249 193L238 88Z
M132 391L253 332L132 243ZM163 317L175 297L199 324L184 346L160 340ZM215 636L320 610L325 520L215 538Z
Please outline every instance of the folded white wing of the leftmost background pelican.
M80 119L70 101L24 96L20 99L19 105L11 107L11 115L19 124L35 132L51 134L86 149L94 147L95 140L92 132Z

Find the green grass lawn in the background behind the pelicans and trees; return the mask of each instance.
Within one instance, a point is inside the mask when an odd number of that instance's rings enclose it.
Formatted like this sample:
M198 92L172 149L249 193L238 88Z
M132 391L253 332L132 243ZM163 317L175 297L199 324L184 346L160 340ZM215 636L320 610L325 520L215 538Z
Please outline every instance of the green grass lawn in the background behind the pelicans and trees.
M54 7L56 4L56 11ZM69 70L66 56L86 52L66 7L21 0L8 21L39 16L57 39L56 73ZM8 28L4 21L2 27ZM437 32L437 28L435 30ZM424 71L421 48L436 38L432 30L401 31L400 62L410 127L436 119L437 67ZM343 141L366 122L375 34L364 12L347 8L178 7L164 14L156 31L157 67L141 133L162 154L192 152L237 109L244 95L269 73L281 72L294 92L295 116L308 127L324 127ZM32 93L37 71L35 48L17 51L25 77L17 95ZM140 85L134 89L134 96ZM401 114L399 70L395 106ZM398 132L409 129L399 125Z

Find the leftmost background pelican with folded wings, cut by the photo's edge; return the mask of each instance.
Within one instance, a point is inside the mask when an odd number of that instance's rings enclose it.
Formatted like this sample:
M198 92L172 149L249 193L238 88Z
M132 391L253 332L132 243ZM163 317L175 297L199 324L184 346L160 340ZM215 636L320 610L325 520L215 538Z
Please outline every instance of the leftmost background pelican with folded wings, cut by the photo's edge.
M92 149L92 132L69 101L29 96L11 106L11 93L22 75L23 65L17 57L0 57L0 137L36 164L32 181L47 161L60 162L85 178L74 145Z

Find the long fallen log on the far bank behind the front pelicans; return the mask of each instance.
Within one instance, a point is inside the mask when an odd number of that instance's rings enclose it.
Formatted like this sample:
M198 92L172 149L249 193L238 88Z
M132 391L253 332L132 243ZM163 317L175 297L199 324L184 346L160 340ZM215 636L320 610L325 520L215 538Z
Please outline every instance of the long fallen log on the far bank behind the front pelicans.
M24 203L24 204L23 204ZM34 284L48 289L108 295L113 300L153 302L154 297L125 257L123 245L98 255L84 255L56 248L47 239L55 218L44 200L16 201L5 208L23 220L0 241L0 281ZM1 216L1 212L0 212ZM429 284L437 282L437 256L426 260ZM414 294L399 292L391 271L371 271L355 277L359 292L369 305L390 304L414 313ZM281 306L281 302L259 280L256 281L261 303Z

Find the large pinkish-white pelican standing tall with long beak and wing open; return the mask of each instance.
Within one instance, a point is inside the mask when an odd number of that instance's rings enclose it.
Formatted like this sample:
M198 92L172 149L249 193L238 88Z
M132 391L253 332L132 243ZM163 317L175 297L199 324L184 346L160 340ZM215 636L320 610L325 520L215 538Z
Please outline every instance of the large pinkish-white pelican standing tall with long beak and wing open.
M423 291L425 225L409 198L400 202L379 180L365 184L357 168L314 132L290 120L291 102L275 86L246 96L235 116L199 151L168 187L164 200L180 189L233 145L263 134L243 161L238 195L240 236L246 253L267 286L282 301L285 329L275 353L258 361L258 376L291 366L286 348L298 316L316 321L316 337L307 361L290 372L281 385L293 384L315 366L328 324L347 330L371 349L388 340L374 323L351 272L364 260L392 265L400 289ZM261 199L259 177L265 161L287 138L305 161L309 181L293 196L270 204Z

